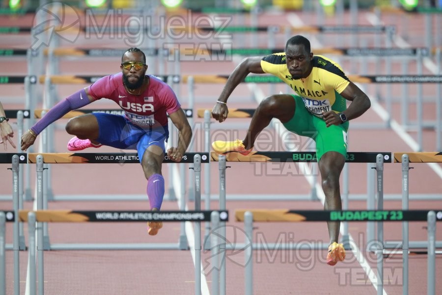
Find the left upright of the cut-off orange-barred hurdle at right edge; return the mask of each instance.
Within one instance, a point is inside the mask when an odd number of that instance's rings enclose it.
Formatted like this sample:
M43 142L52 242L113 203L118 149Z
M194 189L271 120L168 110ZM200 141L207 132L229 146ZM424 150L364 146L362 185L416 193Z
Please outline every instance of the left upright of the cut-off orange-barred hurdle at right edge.
M408 210L410 161L407 154L402 155L402 210ZM408 221L402 221L402 293L408 294L408 250L409 232Z

